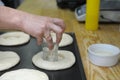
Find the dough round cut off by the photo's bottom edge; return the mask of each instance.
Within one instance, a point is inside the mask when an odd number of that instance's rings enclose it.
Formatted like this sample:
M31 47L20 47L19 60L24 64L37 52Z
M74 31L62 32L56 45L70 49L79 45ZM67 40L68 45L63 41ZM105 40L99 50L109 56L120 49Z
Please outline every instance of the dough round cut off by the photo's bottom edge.
M49 80L46 73L34 69L18 69L4 73L0 80Z

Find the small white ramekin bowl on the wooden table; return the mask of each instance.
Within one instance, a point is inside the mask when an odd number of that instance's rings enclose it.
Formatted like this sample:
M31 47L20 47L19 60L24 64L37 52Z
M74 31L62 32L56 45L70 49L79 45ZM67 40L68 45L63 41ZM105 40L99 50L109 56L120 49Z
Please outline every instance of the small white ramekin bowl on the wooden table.
M89 60L98 66L113 66L117 64L120 49L110 44L92 44L88 47Z

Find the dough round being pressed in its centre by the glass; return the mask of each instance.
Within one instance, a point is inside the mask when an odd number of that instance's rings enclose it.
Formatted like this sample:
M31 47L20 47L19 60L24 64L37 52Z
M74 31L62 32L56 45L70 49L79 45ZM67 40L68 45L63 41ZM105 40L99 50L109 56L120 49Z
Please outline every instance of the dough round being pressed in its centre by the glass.
M70 68L75 63L75 56L70 51L59 50L58 51L58 61L46 61L42 59L43 52L37 53L33 56L33 64L39 68L46 70L62 70Z

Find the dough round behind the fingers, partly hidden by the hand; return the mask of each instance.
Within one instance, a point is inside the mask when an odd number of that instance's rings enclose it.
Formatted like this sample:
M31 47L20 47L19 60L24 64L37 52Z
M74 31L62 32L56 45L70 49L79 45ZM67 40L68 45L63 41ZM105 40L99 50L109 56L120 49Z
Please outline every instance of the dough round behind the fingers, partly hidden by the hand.
M51 36L52 36L53 42L56 42L56 34L52 32ZM69 34L63 33L61 42L59 43L59 47L70 45L72 44L72 42L73 42L73 38Z

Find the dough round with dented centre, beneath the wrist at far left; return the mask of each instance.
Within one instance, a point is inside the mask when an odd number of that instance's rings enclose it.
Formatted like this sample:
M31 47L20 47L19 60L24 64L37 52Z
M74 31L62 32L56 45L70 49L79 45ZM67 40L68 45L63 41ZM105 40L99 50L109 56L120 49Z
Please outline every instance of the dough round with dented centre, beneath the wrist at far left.
M24 32L6 32L0 35L0 45L15 46L27 43L30 40L30 36Z

